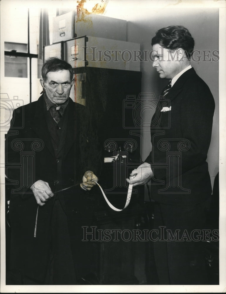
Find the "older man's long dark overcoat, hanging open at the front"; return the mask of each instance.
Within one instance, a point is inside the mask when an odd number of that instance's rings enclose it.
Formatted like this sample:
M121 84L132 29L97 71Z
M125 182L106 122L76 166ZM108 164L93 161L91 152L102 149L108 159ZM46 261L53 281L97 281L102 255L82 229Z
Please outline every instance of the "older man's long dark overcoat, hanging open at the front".
M85 107L69 98L63 156L59 159L54 154L44 107L42 95L38 101L14 110L6 136L6 175L11 190L10 270L16 284L21 284L24 276L42 283L49 258L51 212L56 196L44 206L39 206L37 213L38 205L29 188L31 184L37 180L46 181L54 192L81 183L87 170L95 172L94 159L90 158L93 145L89 141L90 122ZM57 178L58 164L62 164L62 179ZM94 199L79 185L63 194L58 193L58 197L65 201L73 260L79 279L90 270L90 243L82 242L82 226L90 225Z

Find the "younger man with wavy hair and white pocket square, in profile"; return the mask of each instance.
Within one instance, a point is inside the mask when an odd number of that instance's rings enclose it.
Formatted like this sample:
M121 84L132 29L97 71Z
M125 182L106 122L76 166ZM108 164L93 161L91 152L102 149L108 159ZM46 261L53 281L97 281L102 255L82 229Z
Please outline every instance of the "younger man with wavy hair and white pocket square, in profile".
M170 81L152 118L152 151L127 181L136 186L151 180L159 283L206 284L202 229L212 193L206 158L215 103L190 65L194 39L186 28L158 30L152 46L153 67Z

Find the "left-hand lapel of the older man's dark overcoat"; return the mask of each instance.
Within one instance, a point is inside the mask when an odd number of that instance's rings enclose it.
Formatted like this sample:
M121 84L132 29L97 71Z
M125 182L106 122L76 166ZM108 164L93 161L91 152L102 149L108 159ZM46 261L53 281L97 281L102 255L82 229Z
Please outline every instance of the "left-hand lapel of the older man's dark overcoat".
M44 115L44 98L43 95L37 101L34 118L30 120L30 125L33 131L44 142L44 145L49 149L54 156L54 150L49 135L48 126Z

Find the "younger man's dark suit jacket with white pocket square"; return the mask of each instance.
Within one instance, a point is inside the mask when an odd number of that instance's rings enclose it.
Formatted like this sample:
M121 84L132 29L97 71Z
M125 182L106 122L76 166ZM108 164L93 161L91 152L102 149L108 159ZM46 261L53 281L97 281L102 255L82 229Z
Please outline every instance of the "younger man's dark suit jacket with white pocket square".
M161 112L163 107L171 110ZM193 68L159 99L151 123L152 151L145 160L154 173L151 198L155 201L192 205L211 195L206 159L214 109L209 87Z

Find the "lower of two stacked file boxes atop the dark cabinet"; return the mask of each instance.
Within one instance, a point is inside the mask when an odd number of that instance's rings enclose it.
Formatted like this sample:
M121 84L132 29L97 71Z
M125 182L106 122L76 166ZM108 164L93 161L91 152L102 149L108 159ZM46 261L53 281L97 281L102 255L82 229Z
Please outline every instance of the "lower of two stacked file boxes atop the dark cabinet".
M73 68L140 71L140 61L134 60L134 52L139 50L137 43L83 36L64 41L64 60Z

